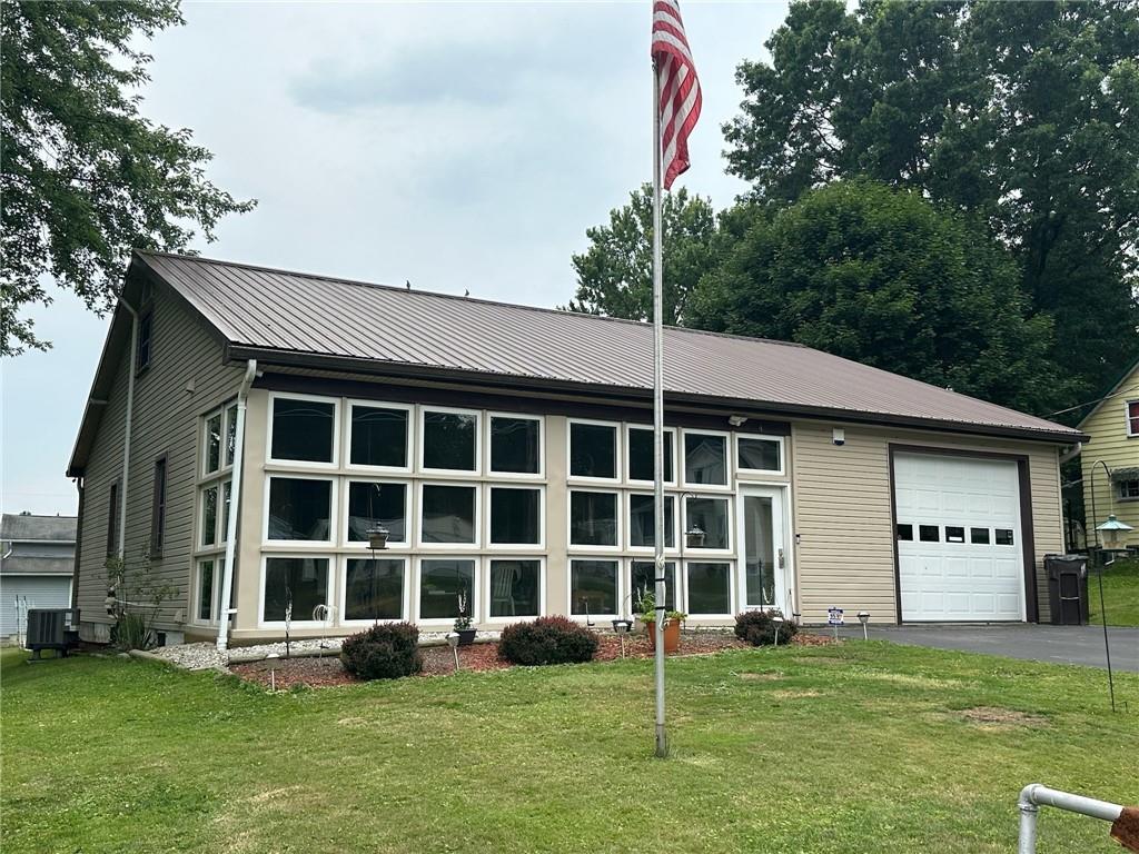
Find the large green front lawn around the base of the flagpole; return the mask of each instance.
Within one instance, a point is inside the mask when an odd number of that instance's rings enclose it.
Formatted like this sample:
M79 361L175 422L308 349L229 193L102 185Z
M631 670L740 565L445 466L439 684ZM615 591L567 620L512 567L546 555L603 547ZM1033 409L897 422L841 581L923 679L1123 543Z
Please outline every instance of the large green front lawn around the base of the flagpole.
M1041 781L1139 802L1097 670L849 642L268 695L2 656L3 851L1007 852ZM1139 676L1116 675L1139 708ZM970 720L966 709L992 707ZM1042 852L1114 852L1044 811Z

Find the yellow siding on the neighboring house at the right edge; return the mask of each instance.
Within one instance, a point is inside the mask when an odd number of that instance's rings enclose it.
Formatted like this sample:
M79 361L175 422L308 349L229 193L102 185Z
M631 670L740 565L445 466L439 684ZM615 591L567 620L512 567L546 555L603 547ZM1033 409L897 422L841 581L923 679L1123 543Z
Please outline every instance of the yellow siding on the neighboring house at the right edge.
M1139 436L1128 436L1126 403L1139 400L1139 368L1120 384L1112 396L1104 401L1099 409L1089 416L1081 429L1091 436L1083 446L1083 511L1088 520L1088 540L1095 542L1095 528L1107 519L1109 512L1115 512L1120 522L1125 522L1134 528L1120 536L1120 541L1139 545L1139 501L1113 501L1114 486L1108 483L1103 460L1108 468L1131 468L1139 466ZM1091 469L1095 466L1096 508L1098 518L1092 515Z

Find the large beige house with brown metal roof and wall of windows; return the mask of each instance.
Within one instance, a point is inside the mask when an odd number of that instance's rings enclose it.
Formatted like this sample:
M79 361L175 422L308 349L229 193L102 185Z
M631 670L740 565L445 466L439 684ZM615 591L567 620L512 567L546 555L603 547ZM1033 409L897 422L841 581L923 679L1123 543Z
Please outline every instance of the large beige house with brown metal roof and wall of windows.
M1079 430L796 344L665 348L691 624L1047 617ZM487 629L628 614L653 572L652 353L644 323L136 253L68 468L84 638L116 553L177 586L167 641L286 615L293 637L443 630L460 594Z

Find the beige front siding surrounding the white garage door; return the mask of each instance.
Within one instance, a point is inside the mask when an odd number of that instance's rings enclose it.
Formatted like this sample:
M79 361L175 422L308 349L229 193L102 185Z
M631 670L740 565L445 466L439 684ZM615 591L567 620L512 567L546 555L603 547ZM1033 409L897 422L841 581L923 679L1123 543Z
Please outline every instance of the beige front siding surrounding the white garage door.
M845 429L842 446L831 442L834 427ZM868 610L876 621L896 619L892 443L1029 458L1038 601L1041 622L1048 619L1043 557L1064 551L1056 445L842 424L800 422L792 435L800 610L805 622L825 621L831 606L846 614Z

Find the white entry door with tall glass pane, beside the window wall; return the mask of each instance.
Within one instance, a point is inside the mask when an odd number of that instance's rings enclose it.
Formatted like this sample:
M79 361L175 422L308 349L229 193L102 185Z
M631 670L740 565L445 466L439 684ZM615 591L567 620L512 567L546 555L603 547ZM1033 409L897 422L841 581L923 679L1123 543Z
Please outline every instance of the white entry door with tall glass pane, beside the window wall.
M785 490L741 486L739 490L740 556L744 609L779 608L790 616L789 556L784 510Z

